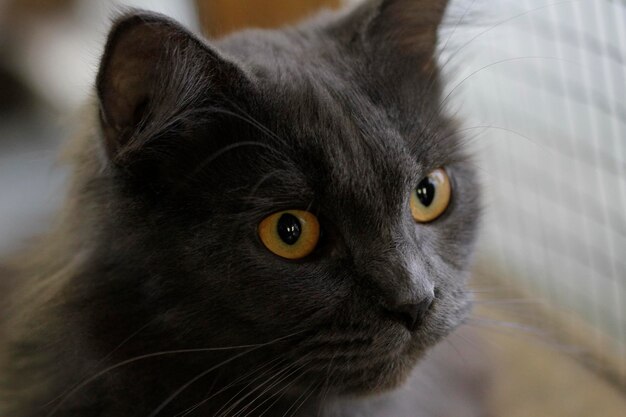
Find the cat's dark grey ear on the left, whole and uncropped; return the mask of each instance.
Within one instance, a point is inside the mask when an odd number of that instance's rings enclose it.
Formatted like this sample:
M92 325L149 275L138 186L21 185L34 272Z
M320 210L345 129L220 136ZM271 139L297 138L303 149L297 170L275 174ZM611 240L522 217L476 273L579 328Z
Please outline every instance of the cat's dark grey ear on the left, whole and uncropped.
M175 137L173 129L188 130L186 118L195 108L229 97L245 78L237 65L164 16L121 17L96 82L109 158L123 164L154 142Z

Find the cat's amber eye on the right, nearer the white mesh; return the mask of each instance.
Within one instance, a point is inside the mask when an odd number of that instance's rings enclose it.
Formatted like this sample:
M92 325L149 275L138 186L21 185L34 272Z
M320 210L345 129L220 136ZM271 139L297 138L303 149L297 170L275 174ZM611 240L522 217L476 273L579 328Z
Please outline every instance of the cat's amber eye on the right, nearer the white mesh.
M415 221L427 223L441 216L452 196L450 178L438 168L421 180L411 193L411 214Z

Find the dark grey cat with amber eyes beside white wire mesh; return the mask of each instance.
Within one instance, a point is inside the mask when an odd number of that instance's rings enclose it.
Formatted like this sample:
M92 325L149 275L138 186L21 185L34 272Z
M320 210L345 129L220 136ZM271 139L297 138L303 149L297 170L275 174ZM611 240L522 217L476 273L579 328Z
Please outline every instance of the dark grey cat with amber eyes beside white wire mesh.
M428 352L470 309L480 211L446 6L213 41L119 16L58 224L14 262L0 415L485 415L415 389L466 381Z

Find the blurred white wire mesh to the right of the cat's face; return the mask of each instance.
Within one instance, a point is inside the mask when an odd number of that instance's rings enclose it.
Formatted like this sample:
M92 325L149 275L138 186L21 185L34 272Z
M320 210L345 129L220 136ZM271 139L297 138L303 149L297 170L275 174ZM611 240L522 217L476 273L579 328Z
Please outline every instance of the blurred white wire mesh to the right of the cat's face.
M441 62L486 190L481 273L626 384L626 2L453 6Z

